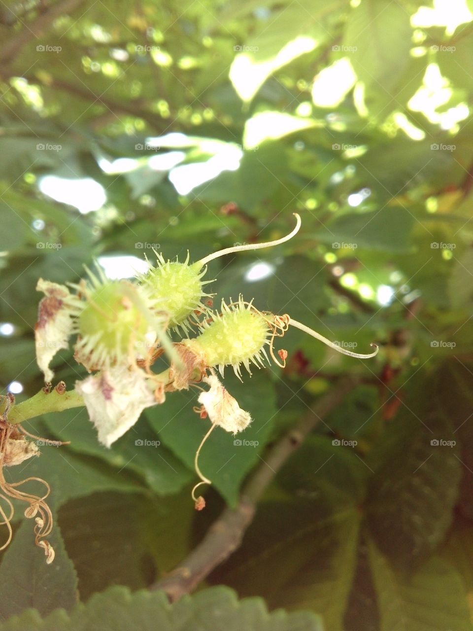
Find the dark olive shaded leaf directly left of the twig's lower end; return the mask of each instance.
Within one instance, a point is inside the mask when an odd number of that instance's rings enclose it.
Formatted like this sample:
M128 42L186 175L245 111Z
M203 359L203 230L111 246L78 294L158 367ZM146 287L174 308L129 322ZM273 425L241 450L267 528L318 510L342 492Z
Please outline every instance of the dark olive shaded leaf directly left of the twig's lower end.
M105 492L64 504L59 525L81 599L115 584L147 587L170 572L190 551L195 515L189 488L165 502L151 493Z

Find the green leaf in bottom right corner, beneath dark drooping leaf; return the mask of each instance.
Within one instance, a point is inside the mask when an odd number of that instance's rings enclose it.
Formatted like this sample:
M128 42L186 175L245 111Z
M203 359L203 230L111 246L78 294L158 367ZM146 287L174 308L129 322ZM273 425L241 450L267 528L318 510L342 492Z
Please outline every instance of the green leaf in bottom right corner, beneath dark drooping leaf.
M380 631L472 630L465 587L451 565L433 557L407 578L390 568L373 543L370 562Z

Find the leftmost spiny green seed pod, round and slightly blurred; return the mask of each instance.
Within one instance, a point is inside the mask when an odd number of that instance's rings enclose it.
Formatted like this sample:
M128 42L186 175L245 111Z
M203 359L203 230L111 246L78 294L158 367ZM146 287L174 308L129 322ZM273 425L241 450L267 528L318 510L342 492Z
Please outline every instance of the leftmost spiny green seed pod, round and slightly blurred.
M146 356L156 336L149 298L128 281L89 275L92 286L79 286L86 305L77 321L76 359L95 370Z

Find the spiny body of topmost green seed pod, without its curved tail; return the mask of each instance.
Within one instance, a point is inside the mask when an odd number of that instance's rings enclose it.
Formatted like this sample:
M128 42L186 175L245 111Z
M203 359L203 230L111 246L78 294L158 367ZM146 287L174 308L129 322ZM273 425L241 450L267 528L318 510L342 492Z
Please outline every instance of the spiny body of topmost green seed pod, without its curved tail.
M184 263L165 261L161 254L155 254L156 267L151 267L146 274L139 274L138 280L156 304L156 309L168 317L168 326L181 327L187 333L189 316L194 312L205 313L208 309L204 301L211 294L205 293L203 286L211 281L201 280L207 268L202 269L201 262L189 265L189 252Z

